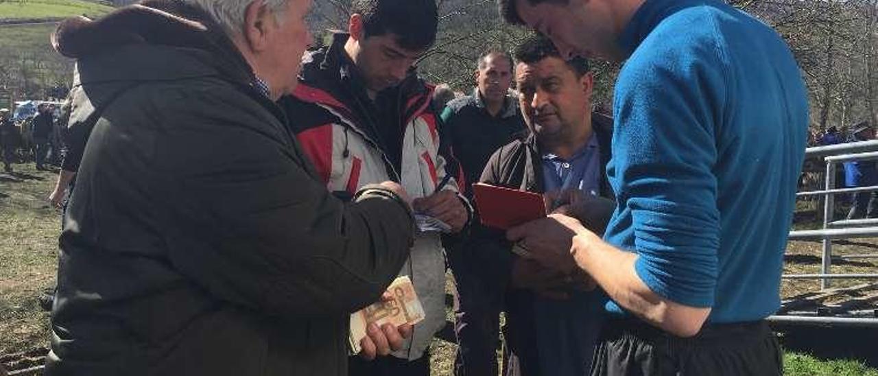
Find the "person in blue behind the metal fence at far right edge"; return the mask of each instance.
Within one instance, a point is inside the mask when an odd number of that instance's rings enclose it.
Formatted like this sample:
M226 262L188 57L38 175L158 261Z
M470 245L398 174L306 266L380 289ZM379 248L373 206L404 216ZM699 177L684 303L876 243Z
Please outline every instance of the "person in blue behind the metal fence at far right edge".
M853 126L853 141L874 140L874 128L867 121L862 121ZM875 161L851 161L845 164L845 186L847 188L867 187L878 185L878 165ZM848 220L862 218L874 218L875 209L878 208L878 192L855 192L852 195L851 211L847 213Z

